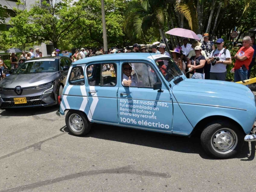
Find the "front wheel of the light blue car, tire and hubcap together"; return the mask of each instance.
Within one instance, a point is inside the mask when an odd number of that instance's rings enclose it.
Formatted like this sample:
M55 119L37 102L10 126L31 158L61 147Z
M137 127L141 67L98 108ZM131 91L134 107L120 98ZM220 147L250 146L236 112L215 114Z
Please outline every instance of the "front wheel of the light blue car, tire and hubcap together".
M213 158L232 158L240 152L244 144L244 135L244 132L232 122L215 121L203 130L201 144L206 153Z

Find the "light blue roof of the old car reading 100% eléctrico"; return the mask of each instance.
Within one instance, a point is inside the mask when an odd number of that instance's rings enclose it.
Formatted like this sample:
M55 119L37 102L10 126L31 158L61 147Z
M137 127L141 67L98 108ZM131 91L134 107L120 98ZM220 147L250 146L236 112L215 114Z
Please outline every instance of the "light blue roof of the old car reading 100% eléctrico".
M99 56L86 57L76 62L72 63L72 65L77 64L85 64L90 62L100 62L107 60L154 60L154 56L157 54L150 53L118 53L118 54L106 54ZM158 54L160 56L160 54ZM161 57L166 57L165 55L161 55Z

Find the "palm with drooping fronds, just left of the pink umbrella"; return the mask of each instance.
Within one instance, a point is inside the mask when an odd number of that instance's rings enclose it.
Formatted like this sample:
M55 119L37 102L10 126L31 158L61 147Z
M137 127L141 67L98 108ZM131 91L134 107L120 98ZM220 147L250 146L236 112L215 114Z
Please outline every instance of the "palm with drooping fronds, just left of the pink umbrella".
M135 33L145 40L147 30L150 27L155 27L159 29L160 35L167 45L166 37L162 31L168 17L167 4L167 0L164 0L164 2L158 0L132 0L125 12L124 31L129 34L130 30L134 29ZM168 46L166 47L168 48Z

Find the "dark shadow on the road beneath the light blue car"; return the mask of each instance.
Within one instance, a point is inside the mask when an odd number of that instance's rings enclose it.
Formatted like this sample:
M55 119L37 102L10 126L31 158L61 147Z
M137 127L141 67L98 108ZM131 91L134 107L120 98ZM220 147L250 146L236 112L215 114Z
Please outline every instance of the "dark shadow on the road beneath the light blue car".
M69 132L67 127L64 128L64 131ZM94 124L90 133L84 137L111 140L182 153L199 154L204 159L214 159L210 158L204 152L200 144L200 137L198 136L187 138L182 136L162 134L158 132ZM248 157L249 153L249 146L246 142L244 148L236 158L246 158Z

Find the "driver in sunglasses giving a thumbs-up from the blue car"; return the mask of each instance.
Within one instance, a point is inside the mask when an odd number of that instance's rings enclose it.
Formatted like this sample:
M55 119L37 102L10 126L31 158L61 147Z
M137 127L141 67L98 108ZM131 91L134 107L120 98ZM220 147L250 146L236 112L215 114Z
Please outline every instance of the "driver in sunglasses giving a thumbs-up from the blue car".
M137 87L138 86L138 80L134 76L132 76L132 66L130 66L128 63L123 64L123 86L127 87Z

